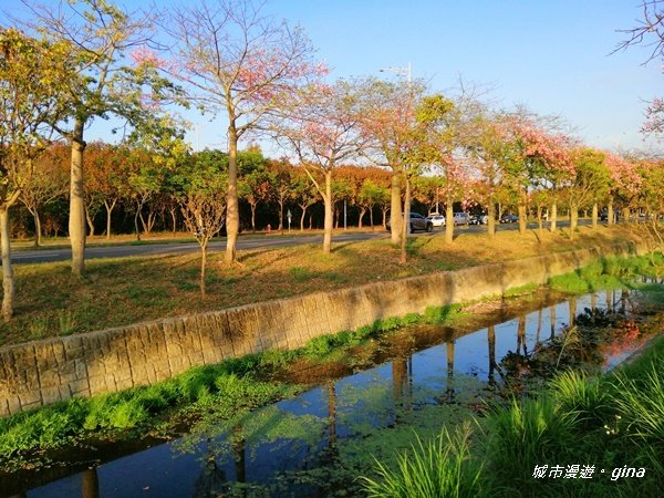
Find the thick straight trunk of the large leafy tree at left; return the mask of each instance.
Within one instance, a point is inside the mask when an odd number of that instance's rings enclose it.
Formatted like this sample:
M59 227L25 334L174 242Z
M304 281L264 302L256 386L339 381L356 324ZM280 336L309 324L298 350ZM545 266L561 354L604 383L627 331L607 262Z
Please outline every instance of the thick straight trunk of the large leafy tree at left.
M85 272L85 179L83 175L84 121L76 117L72 137L69 235L72 246L72 273Z

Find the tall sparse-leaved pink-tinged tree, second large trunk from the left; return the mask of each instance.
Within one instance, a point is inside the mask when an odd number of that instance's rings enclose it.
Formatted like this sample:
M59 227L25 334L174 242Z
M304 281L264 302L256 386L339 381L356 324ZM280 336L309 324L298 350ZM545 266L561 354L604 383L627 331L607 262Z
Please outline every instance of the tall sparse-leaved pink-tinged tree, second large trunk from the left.
M301 29L261 13L251 0L210 0L174 10L173 60L166 70L204 112L224 114L228 138L226 261L234 262L239 232L238 142L261 129L283 103L325 74Z

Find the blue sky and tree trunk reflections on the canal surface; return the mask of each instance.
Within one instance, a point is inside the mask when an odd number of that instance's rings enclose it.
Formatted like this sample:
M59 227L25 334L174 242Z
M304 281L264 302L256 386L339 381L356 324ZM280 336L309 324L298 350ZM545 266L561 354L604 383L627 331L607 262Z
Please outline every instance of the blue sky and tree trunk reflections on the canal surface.
M621 294L621 308L632 308L629 298L626 292ZM612 309L612 293L606 292L605 310ZM190 434L173 444L175 452L157 455L154 452L159 447L155 447L143 452L143 458L156 461L168 458L174 468L178 468L177 465L183 468L153 476L153 483L159 478L185 480L180 488L184 492L178 496L324 496L345 489L343 486L351 486L352 479L339 478L334 483L330 476L335 470L330 469L346 466L347 471L349 461L357 458L356 453L363 453L366 459L372 454L357 449L362 446L353 446L355 453L350 452L349 456L349 442L371 440L383 430L387 434L384 436L386 443L383 443L392 446L400 427L402 430L419 429L423 419L432 419L439 430L443 418L429 417L427 407L460 406L468 396L477 396L473 393L484 396L487 382L490 386L499 384L500 380L520 382L535 374L531 367L540 355L546 359L549 354L556 362L559 360L556 343L561 342L563 318L569 313L569 324L575 322L581 329L583 323L594 323L595 315L574 317L577 309L590 307L592 310L596 305L598 297L593 294L540 308L529 314L521 313L513 320L490 324L466 335L458 331L452 336L448 333L436 335L445 342L418 352L401 347L397 356L387 363L343 378L328 380L295 398L251 413L238 413L231 421L219 422L214 417L201 421ZM608 313L599 317L608 317ZM546 332L549 322L550 338L542 338L549 335ZM432 333L430 329L426 333ZM502 360L498 362L497 359ZM412 435L411 430L404 432ZM381 449L374 447L374 454ZM142 471L131 477L126 470L138 455L98 467L104 496L144 494ZM187 459L185 455L191 458ZM354 470L352 465L350 468ZM107 485L107 490L104 483L108 481L104 480L103 473L114 469L129 477L116 488ZM83 497L97 497L97 469L86 470L81 477ZM71 496L71 492L55 492L56 485L53 483L31 491L31 496ZM61 489L64 488L61 486Z

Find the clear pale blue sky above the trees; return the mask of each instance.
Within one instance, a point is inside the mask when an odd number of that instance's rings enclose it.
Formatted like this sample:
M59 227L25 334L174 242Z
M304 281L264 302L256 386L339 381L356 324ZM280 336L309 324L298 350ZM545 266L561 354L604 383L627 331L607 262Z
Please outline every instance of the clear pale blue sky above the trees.
M196 0L189 0L196 1ZM214 0L208 0L212 2ZM127 8L148 2L117 1ZM159 7L172 2L158 0ZM662 149L639 133L646 101L662 96L662 61L635 46L610 55L636 24L641 0L271 0L266 10L300 24L331 76L375 75L412 65L413 77L435 92L459 76L492 89L497 107L525 104L557 114L588 145L605 149ZM19 9L4 0L4 10ZM15 12L15 10L14 10ZM199 123L200 147L224 147L226 125ZM91 135L104 136L103 124ZM190 135L196 145L196 134Z

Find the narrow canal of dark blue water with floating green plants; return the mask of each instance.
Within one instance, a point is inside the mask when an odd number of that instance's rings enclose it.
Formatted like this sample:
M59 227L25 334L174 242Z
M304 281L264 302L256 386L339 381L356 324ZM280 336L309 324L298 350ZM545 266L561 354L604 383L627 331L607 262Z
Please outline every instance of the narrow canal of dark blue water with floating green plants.
M290 372L291 380L318 386L248 416L201 421L175 440L124 444L96 458L86 452L56 469L6 477L0 496L355 496L355 473L374 455L406 447L413 429L426 435L454 425L529 369L515 357L537 355L567 325L594 317L585 309L636 313L635 294L547 293L480 310L474 330L404 329L374 347L367 370ZM620 363L639 344L604 347L596 369Z

